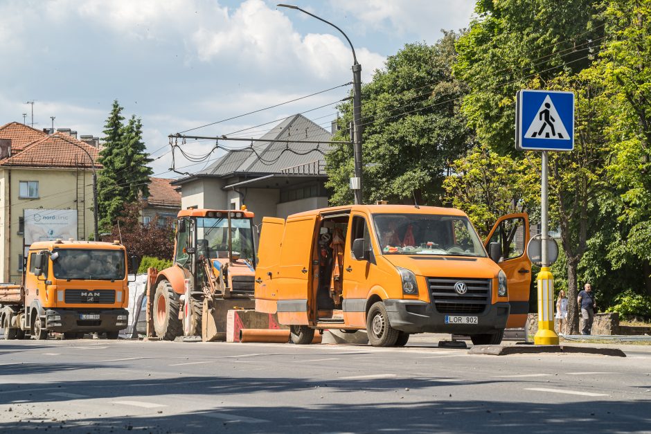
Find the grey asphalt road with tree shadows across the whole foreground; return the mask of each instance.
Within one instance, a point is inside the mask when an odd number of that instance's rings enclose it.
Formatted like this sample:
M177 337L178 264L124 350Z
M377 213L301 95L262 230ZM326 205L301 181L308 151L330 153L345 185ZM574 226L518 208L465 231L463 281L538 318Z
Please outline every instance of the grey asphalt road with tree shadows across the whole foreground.
M435 343L1 341L0 432L651 432L651 348Z

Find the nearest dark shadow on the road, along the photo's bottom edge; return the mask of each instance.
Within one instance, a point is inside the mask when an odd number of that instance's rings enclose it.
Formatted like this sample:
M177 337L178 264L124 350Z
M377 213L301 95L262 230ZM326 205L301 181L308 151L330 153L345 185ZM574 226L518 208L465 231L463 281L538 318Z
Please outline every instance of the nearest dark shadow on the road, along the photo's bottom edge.
M145 431L149 433L322 433L398 431L612 433L645 431L651 424L651 401L591 401L589 405L530 404L518 401L453 401L434 398L410 404L324 404L274 406L256 402L251 407L197 411L181 415L98 417L72 422L0 422L0 431L34 428L65 432ZM169 410L168 410L169 411ZM6 420L6 419L5 419Z

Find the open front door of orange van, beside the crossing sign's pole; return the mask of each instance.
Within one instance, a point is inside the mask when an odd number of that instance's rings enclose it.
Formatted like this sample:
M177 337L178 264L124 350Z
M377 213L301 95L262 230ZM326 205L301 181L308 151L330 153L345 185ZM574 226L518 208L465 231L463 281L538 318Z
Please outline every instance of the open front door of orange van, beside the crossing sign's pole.
M485 241L486 250L491 242L499 242L502 257L498 265L508 280L510 315L507 328L524 327L529 311L531 262L526 255L529 240L529 217L526 213L500 217Z

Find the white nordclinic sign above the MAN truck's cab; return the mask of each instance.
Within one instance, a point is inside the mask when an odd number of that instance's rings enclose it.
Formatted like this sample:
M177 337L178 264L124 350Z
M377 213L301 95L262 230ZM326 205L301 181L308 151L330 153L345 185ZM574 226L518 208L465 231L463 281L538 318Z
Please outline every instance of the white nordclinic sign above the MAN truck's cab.
M77 239L77 210L25 210L25 245Z

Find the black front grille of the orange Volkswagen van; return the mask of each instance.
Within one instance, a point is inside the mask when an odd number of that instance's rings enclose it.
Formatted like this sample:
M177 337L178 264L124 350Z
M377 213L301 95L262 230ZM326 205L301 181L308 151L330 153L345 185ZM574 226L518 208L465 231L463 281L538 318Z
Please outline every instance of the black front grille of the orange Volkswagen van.
M454 287L463 282L467 290L458 293ZM492 279L427 278L429 296L441 314L481 314L490 304Z

